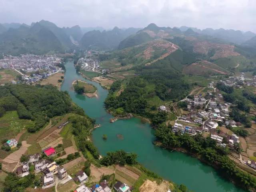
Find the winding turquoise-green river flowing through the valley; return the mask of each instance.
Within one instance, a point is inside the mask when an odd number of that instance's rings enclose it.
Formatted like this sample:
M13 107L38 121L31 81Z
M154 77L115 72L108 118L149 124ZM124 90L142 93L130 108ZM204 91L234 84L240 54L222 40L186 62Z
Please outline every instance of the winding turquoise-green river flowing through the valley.
M201 163L196 158L181 152L170 152L152 144L154 130L149 124L142 123L140 119L131 118L110 123L109 119L112 116L103 106L108 91L98 83L86 80L77 74L73 62L67 62L65 67L66 73L61 90L68 91L73 102L82 107L88 116L96 119L96 124L102 125L92 133L93 142L100 154L105 155L108 151L120 149L135 152L143 166L162 178L184 184L195 192L245 192L221 178L212 167ZM99 98L87 98L76 94L72 89L72 82L78 79L96 86ZM103 134L107 135L107 140L102 139Z

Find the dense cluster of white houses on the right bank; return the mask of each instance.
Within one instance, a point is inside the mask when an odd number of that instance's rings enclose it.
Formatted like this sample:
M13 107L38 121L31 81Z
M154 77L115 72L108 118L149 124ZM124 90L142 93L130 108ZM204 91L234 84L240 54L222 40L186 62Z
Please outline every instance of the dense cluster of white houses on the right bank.
M212 84L209 86L212 86ZM229 107L231 104L220 104L220 99L222 99L221 94L217 94L210 100L206 100L201 94L194 96L192 99L184 99L183 101L188 103L187 110L190 113L178 117L172 127L172 132L188 133L190 135L207 132L213 140L216 140L218 145L222 147L226 147L226 145L234 147L236 143L239 143L239 137L236 134L229 136L219 130L217 132L218 122L222 122L224 126L240 126L240 122L229 120ZM207 108L207 110L196 112L200 108Z

